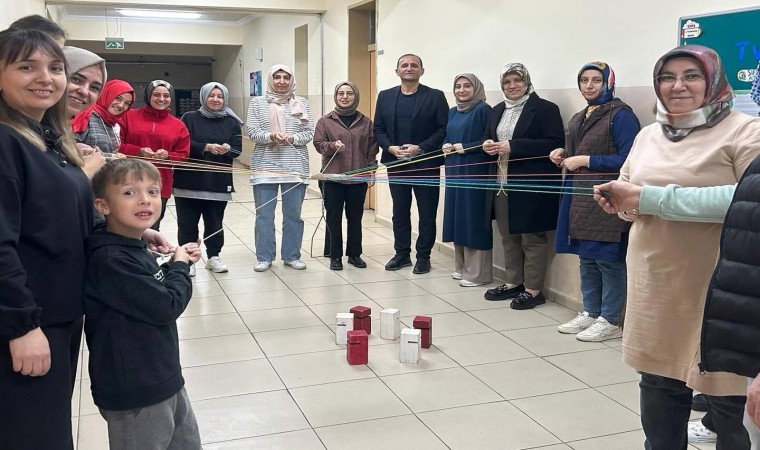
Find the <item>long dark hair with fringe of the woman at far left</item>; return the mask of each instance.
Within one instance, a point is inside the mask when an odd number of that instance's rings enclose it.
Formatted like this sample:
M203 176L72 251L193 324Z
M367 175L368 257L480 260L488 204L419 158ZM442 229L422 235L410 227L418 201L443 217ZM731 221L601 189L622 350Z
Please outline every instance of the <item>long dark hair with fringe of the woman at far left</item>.
M65 63L63 50L46 33L37 30L7 29L0 32L0 70L5 70L9 64L30 58L36 51L41 51ZM66 95L61 93L58 102L48 108L42 117L43 124L51 127L60 135L59 149L73 164L81 167L84 162L76 149L74 135L66 117ZM16 130L35 147L46 151L45 140L39 130L33 128L33 120L9 105L0 92L0 123Z

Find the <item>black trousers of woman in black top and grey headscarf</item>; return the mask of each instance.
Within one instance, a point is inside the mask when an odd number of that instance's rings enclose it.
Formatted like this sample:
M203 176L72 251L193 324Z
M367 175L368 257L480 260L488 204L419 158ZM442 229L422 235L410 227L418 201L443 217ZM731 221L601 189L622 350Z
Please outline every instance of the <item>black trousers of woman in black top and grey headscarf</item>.
M219 256L224 246L224 210L227 202L200 200L197 198L174 197L177 205L177 243L180 245L198 240L198 221L203 216L203 243L206 255ZM219 231L219 233L216 233ZM214 234L210 238L208 235Z

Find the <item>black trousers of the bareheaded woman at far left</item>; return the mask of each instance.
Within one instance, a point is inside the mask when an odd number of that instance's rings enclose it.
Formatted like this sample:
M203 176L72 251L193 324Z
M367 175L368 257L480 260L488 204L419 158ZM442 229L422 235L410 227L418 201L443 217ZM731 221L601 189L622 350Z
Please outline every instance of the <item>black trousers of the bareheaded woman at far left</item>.
M82 319L44 327L50 371L29 377L13 371L8 343L0 345L0 447L8 450L69 450L71 395L77 372Z

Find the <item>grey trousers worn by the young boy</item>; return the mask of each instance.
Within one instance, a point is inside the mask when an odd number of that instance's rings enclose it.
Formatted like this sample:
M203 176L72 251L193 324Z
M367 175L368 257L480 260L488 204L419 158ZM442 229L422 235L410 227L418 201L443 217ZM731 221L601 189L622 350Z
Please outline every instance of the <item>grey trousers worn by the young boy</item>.
M201 436L185 388L155 405L100 410L111 450L201 450Z

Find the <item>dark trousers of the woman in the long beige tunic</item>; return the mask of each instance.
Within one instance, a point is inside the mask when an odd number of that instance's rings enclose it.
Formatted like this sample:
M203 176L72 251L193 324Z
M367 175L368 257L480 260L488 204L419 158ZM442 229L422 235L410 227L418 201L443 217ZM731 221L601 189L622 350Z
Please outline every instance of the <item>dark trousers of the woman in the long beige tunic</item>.
M686 425L693 391L681 380L641 374L641 425L647 450L684 450ZM749 434L742 424L744 396L707 396L712 431L718 434L716 450L749 450Z

